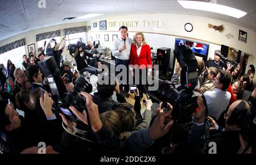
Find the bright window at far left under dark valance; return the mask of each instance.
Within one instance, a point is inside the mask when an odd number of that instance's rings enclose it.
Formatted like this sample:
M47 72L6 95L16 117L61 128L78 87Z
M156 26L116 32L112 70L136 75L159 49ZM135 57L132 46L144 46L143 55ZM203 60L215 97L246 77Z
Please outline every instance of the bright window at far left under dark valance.
M8 60L11 60L11 62L13 62L16 68L17 67L22 68L22 62L23 62L22 56L24 54L26 54L25 46L20 46L19 48L0 54L0 61L3 65L5 65L6 69L7 69Z

